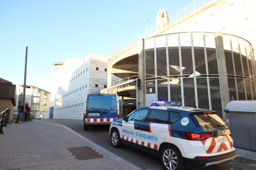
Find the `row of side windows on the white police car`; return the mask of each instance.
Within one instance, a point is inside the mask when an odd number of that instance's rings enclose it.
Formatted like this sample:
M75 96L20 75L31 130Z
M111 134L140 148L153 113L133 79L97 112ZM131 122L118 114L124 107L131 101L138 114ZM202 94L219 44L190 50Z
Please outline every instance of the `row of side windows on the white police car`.
M130 121L146 121L150 123L163 124L174 123L177 120L181 119L181 115L179 115L179 113L177 112L156 109L151 109L150 115L147 118L148 111L150 111L150 109L135 111L134 113L132 113L132 115L129 116L128 119Z

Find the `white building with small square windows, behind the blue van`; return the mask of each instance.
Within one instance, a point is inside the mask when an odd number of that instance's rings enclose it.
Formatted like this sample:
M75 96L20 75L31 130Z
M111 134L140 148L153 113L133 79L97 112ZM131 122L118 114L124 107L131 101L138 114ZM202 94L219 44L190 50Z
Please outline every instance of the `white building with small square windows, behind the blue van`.
M107 87L109 59L90 53L83 60L69 58L64 63L54 63L53 118L83 119L85 94Z

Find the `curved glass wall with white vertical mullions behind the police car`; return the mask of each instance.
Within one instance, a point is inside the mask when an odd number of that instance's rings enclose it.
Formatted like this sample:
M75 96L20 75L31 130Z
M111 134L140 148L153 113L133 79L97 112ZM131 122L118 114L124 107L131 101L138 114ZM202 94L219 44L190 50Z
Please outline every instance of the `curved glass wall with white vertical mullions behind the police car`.
M223 45L230 100L256 100L252 46L228 34L223 34ZM158 100L215 110L222 117L217 57L215 33L175 33L145 39L146 94L154 91Z

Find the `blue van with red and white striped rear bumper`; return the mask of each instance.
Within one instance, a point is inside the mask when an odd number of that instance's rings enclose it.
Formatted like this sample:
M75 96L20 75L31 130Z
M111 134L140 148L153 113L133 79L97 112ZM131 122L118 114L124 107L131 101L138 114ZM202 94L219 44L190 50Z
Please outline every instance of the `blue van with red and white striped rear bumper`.
M99 124L111 124L119 118L119 102L116 94L87 94L83 111L83 129Z

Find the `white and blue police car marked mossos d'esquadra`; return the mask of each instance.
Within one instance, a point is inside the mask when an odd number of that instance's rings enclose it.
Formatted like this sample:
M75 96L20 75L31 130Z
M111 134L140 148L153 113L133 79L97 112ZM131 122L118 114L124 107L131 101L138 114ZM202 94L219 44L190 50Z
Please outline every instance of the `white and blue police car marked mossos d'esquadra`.
M158 156L165 169L200 168L236 158L231 131L216 111L177 105L153 101L151 107L116 119L109 129L111 144Z

